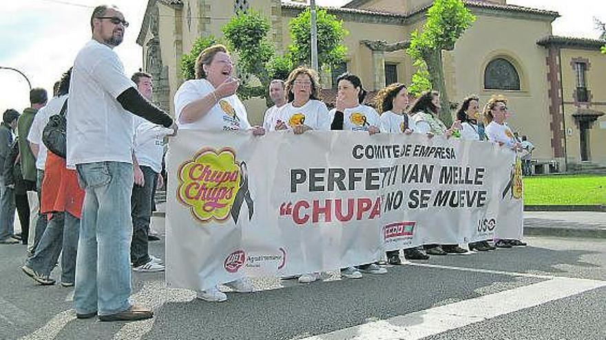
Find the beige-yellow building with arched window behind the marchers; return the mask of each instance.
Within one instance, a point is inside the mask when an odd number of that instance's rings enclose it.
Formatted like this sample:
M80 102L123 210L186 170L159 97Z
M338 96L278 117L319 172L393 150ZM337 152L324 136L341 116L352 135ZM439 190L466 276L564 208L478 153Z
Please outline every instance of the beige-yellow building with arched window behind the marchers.
M506 0L464 2L477 20L454 51L443 53L450 100L461 102L470 94L479 95L482 102L496 93L507 96L514 113L509 124L536 146L533 158L539 171L606 166L606 57L599 53L603 42L552 36L557 12L509 5ZM346 60L333 67L333 77L350 71L370 91L396 81L409 83L415 69L405 52L408 37L424 24L431 3L353 0L342 8L326 8L349 31L344 39ZM199 36L222 36L221 27L238 10L249 8L271 21L275 49L284 52L290 43L288 23L304 5L280 0L149 0L137 42L163 107L174 111L172 98L183 81L182 54ZM333 77L322 77L328 102ZM246 104L251 123L262 122L264 100Z

